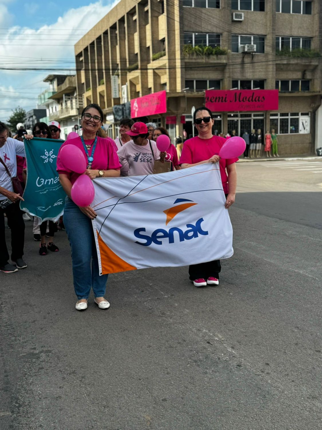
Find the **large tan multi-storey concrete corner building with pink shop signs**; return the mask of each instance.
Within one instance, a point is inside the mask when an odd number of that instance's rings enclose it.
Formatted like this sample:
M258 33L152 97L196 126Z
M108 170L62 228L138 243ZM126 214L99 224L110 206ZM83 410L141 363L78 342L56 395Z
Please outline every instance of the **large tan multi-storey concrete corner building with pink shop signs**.
M318 0L121 0L75 45L77 92L84 105L100 104L113 137L131 114L173 138L194 134L191 111L207 89L267 97L277 89L274 110L215 107L215 129L275 129L279 154L313 153L321 146L321 22Z

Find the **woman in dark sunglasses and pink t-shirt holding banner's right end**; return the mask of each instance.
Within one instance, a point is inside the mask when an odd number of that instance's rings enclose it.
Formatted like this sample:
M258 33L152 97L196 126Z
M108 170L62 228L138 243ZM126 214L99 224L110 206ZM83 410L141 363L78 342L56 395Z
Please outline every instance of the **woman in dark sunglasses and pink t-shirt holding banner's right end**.
M213 114L207 107L199 107L194 111L194 126L198 135L188 139L183 144L180 164L182 169L204 163L219 161L222 187L226 196L225 208L229 209L235 201L237 187L236 161L238 158L223 160L219 151L224 144L224 138L214 136L212 132ZM207 261L189 266L189 278L194 286L203 287L219 284L220 260Z

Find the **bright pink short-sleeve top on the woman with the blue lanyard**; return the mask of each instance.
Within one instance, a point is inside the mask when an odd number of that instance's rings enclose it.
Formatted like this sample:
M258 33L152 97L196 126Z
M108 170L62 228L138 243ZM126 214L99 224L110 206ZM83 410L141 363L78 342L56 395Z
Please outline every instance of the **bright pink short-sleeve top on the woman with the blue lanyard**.
M93 140L84 140L84 141L85 141L85 144L93 143ZM86 157L86 153L82 144L82 139L80 137L76 137L74 139L68 139L61 145L58 151L56 170L58 173L64 173L65 175L68 175L70 182L73 184L76 181L76 179L80 176L80 174L76 172L72 172L69 169L66 169L66 167L61 162L60 152L61 152L61 148L64 147L65 145L77 146L79 149L82 150L85 157ZM88 152L89 154L91 154L91 150ZM115 142L110 138L97 137L97 144L96 144L93 158L94 160L91 167L94 170L121 169L121 164L118 161L118 156L116 154Z

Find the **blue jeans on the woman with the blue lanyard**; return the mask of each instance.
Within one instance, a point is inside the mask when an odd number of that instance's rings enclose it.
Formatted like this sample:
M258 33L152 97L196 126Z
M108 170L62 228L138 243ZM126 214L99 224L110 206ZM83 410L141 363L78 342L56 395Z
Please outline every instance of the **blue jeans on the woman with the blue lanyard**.
M72 249L74 289L78 300L87 299L91 288L94 297L104 297L108 275L100 276L91 220L68 198L64 225Z

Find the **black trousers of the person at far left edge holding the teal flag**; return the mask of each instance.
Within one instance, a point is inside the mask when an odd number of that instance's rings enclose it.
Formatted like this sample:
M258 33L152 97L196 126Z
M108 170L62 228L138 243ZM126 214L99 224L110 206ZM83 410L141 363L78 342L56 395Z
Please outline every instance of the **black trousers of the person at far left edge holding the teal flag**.
M0 209L0 266L4 266L9 261L4 214L7 216L8 226L11 229L11 259L16 261L17 258L22 258L24 255L24 220L19 202L20 200L5 209Z

